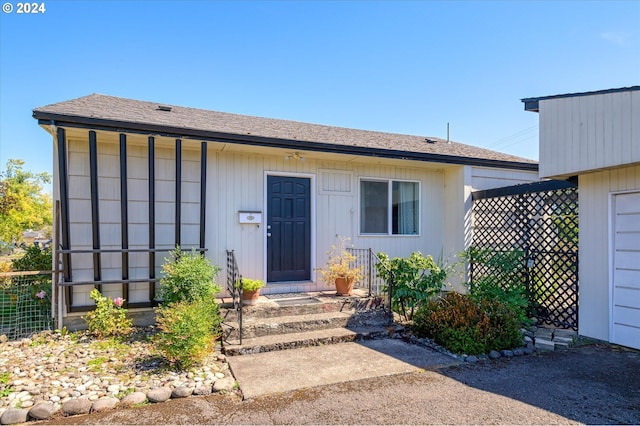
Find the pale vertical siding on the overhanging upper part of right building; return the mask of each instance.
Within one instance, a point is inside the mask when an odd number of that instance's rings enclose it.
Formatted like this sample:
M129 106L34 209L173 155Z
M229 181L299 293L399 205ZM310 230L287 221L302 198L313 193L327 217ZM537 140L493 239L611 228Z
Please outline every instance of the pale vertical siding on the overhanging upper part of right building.
M640 163L640 91L540 101L540 176Z

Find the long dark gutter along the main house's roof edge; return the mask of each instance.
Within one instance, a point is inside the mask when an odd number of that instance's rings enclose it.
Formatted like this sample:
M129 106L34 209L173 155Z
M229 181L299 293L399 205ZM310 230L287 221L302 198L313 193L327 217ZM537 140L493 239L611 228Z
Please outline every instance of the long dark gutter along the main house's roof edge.
M497 167L503 169L538 171L537 163L518 161L492 160L485 158L469 158L455 155L431 154L413 151L396 151L382 148L367 148L353 145L337 145L326 142L309 142L298 139L279 139L264 136L240 135L233 133L213 132L207 130L158 126L146 123L131 123L90 117L68 116L42 111L33 111L33 118L40 125L50 125L55 121L59 127L72 127L91 130L105 130L124 133L154 134L172 138L193 138L210 142L223 142L238 145L266 146L283 149L304 149L315 152L335 154L351 154L366 157L395 158L402 160L429 161L469 166Z

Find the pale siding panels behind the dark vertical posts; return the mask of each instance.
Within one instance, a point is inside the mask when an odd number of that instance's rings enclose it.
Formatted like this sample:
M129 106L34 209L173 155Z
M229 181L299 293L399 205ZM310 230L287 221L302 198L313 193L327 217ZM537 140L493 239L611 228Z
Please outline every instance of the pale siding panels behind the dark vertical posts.
M69 239L73 250L91 250L92 213L91 183L89 171L89 144L83 137L69 136L68 149L68 193L69 193ZM156 276L167 251L175 246L175 144L159 141L155 147L156 179ZM120 249L120 152L117 135L97 132L98 168L98 212L100 222L100 247ZM199 145L182 144L181 167L181 243L186 247L199 245L200 208L200 152ZM128 135L127 139L127 209L129 219L129 248L149 247L149 157L146 137ZM57 193L57 190L56 190ZM122 278L122 256L120 253L102 253L101 279ZM93 255L71 254L72 279L74 282L94 279ZM129 254L129 278L149 276L149 256L145 253ZM157 286L157 284L156 284ZM89 293L93 285L71 287L73 306L93 305ZM105 284L102 294L108 297L122 295L120 284ZM148 302L149 283L129 284L129 303Z

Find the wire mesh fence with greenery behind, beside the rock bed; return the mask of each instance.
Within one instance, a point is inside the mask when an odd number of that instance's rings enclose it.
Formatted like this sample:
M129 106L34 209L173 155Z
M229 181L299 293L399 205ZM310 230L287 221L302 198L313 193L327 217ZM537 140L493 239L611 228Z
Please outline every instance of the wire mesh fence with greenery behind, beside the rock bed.
M15 340L51 329L51 271L0 273L0 335Z

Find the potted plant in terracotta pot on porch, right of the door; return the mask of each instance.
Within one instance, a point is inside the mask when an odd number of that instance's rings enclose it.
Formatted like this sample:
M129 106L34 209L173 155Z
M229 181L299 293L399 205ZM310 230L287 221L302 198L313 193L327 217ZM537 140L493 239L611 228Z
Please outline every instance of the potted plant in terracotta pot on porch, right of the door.
M362 267L354 267L356 257L351 254L346 243L349 238L338 237L339 243L331 246L327 252L327 264L323 268L318 268L322 280L330 285L336 286L338 296L350 296L353 286L362 278Z

